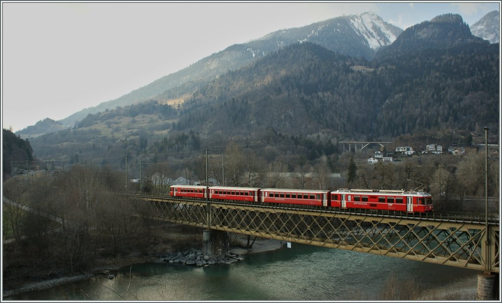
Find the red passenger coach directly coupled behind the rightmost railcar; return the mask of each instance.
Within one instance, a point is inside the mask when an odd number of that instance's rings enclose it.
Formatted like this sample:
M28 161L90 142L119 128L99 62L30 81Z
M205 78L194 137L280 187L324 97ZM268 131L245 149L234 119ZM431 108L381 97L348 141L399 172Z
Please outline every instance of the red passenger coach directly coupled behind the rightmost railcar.
M262 202L298 205L329 206L329 191L266 188L261 191Z

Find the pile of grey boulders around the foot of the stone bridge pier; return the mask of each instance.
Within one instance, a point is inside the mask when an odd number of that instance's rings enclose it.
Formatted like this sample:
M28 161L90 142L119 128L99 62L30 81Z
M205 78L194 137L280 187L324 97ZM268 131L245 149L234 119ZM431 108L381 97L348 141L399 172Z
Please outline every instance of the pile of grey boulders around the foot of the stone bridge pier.
M189 249L186 251L172 252L161 255L156 262L158 263L181 263L184 265L208 266L214 264L231 264L236 261L242 261L244 258L231 252L219 256L204 256L202 250Z

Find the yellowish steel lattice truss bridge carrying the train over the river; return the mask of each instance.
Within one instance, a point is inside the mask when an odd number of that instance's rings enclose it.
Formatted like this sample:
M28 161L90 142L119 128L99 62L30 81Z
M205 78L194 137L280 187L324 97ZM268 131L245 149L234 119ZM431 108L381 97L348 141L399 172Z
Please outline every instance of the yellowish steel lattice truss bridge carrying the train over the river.
M180 200L130 193L148 217L288 242L499 272L499 218Z

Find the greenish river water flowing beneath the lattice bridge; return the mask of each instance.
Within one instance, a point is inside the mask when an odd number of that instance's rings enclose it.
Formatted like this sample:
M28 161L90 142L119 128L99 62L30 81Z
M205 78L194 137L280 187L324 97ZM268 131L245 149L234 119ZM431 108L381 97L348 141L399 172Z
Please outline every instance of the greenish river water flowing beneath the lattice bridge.
M292 243L208 267L146 263L117 276L30 291L11 300L378 300L395 278L422 295L475 298L477 270ZM130 274L130 272L132 274ZM434 299L434 297L433 297Z

